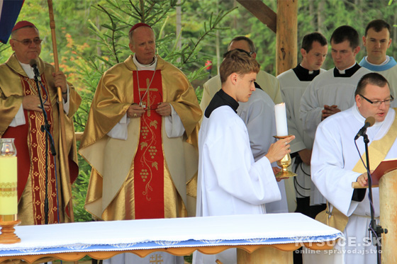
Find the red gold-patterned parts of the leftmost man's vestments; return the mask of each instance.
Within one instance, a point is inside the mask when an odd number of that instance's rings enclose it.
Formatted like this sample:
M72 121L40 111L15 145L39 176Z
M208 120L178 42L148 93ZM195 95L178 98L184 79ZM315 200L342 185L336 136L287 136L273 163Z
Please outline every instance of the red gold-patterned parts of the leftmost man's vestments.
M43 86L47 88L44 74L41 75ZM37 86L33 79L21 76L23 95L38 94ZM43 100L48 100L47 93L40 87ZM51 105L51 102L50 102ZM52 134L52 108L45 110L47 120L51 126ZM15 138L18 156L18 200L23 195L26 183L30 180L33 195L33 217L35 224L45 224L44 200L45 200L45 132L41 131L44 125L43 112L23 110L26 124L18 127L9 127L3 137ZM28 126L28 129L27 127ZM48 142L48 149L50 149ZM30 178L29 178L30 176ZM57 189L55 180L54 156L48 154L48 223L58 223L57 217Z

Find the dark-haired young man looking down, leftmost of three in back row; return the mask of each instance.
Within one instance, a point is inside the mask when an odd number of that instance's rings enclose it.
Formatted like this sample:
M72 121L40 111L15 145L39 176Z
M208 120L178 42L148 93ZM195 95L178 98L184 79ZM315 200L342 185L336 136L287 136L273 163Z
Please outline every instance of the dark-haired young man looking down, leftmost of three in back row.
M280 83L281 96L286 103L286 116L289 134L295 135L291 144L293 157L292 171L298 174L291 178L296 195L296 210L314 218L325 209L323 195L318 192L311 180L311 151L313 139L303 132L301 113L301 97L310 82L324 73L321 69L328 53L328 42L318 32L305 35L302 40L302 61L297 67L284 71L277 76ZM289 179L290 180L290 179ZM301 253L294 251L294 263L302 263Z

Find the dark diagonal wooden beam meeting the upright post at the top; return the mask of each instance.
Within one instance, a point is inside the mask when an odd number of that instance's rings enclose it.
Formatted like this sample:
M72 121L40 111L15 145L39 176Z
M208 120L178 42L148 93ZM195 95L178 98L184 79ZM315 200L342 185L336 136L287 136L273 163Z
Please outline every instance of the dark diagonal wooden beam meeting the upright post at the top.
M265 5L262 0L237 0L237 2L276 33L277 14L269 6Z

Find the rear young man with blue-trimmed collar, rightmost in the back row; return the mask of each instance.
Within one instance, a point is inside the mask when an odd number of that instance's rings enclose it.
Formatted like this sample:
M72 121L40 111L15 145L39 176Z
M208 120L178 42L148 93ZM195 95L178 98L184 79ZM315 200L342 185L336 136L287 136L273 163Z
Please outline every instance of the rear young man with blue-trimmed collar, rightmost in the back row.
M367 56L362 58L360 66L382 74L390 84L391 95L396 97L397 62L393 57L386 55L391 45L390 25L382 19L369 22L362 42L367 49ZM394 101L391 107L396 106L397 101Z

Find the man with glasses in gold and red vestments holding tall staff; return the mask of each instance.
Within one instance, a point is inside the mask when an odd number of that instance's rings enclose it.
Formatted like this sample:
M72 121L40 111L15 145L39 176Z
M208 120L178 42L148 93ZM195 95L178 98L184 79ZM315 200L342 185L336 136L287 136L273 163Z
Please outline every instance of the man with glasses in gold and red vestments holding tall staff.
M45 224L45 171L48 173L48 224L69 222L67 203L69 193L65 165L60 163L60 113L57 105L57 87L62 88L65 115L67 153L71 180L78 173L73 115L81 98L72 84L67 83L62 71L40 59L41 39L38 29L28 21L16 23L10 45L14 53L0 65L0 137L15 138L18 157L18 219L21 224ZM55 142L55 156L51 151L45 166L45 132L43 110L40 108L38 86L30 61L34 59L41 83L40 93ZM49 143L48 143L49 144Z

